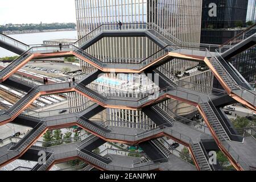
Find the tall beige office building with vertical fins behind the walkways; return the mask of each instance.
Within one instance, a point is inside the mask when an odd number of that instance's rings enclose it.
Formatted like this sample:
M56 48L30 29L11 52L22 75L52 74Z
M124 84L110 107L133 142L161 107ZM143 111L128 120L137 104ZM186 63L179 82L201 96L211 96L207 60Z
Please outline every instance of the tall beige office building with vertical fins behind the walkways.
M163 30L167 31L171 35L183 42L200 42L200 30L201 30L201 0L193 1L156 1L156 0L143 0L143 1L84 1L76 0L76 16L77 16L77 32L79 38L89 34L102 24L108 23L153 23L159 26ZM156 45L152 40L145 37L124 37L124 38L102 38L97 43L90 46L85 51L94 55L100 60L109 59L115 57L115 59L125 59L127 62L134 61L133 59L143 60L146 57L151 56L153 53L160 50L160 47ZM80 61L82 71L91 72L93 67L90 64ZM184 61L174 59L164 65L168 71L173 75L177 72L185 72L187 69L195 67L197 63L193 61ZM200 73L197 73L200 75ZM115 77L116 75L110 75ZM126 75L131 77L131 75ZM122 77L117 75L117 77ZM145 79L145 75L140 75L142 80ZM191 76L197 77L197 76ZM212 72L209 72L206 85L212 86L211 79L213 78ZM185 79L185 78L184 78ZM127 80L127 78L125 78ZM139 81L138 79L137 81ZM193 79L192 79L193 80ZM196 79L195 79L196 80ZM136 82L136 80L134 80ZM137 82L138 84L139 82ZM151 83L149 83L151 84ZM202 82L200 83L202 84ZM177 102L179 104L177 104ZM177 101L175 104L175 112L177 113L191 113L195 111L191 109L191 106L187 104L181 104ZM77 103L77 102L76 102ZM74 105L72 105L74 106ZM183 111L178 111L179 107L182 107ZM187 108L187 111L185 109ZM190 109L189 109L190 108ZM114 109L113 109L114 110ZM118 113L115 111L109 113ZM129 113L133 111L124 111ZM143 115L139 113L138 115ZM126 117L127 118L127 117ZM129 117L129 119L139 118ZM144 121L143 119L141 121ZM139 121L139 122L141 122ZM133 122L138 122L135 119Z

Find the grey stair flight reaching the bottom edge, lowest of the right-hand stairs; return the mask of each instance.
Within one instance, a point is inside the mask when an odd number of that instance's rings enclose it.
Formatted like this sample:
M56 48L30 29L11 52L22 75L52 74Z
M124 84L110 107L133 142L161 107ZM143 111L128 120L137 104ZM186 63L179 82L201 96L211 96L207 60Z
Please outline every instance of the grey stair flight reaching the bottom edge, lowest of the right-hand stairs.
M195 155L196 161L199 164L201 171L211 171L208 160L204 155L204 152L199 143L192 144L191 146L193 154Z

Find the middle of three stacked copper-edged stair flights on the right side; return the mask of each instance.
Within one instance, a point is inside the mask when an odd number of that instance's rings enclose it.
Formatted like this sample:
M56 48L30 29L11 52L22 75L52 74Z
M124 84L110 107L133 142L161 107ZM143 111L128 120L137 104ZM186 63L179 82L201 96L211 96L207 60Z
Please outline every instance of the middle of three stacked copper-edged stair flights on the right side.
M208 122L210 123L210 126L212 126L212 129L214 130L214 133L218 136L221 141L223 140L229 140L228 134L226 134L226 131L221 126L220 121L218 121L218 118L213 112L212 107L210 107L208 102L205 102L203 104L200 104L201 108L203 109L205 115L207 116Z

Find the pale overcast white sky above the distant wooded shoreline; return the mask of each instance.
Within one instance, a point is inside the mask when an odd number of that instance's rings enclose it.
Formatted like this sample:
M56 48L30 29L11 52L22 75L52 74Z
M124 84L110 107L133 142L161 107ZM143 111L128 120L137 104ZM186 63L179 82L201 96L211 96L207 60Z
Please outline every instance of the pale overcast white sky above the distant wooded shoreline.
M0 24L76 23L75 0L0 0Z

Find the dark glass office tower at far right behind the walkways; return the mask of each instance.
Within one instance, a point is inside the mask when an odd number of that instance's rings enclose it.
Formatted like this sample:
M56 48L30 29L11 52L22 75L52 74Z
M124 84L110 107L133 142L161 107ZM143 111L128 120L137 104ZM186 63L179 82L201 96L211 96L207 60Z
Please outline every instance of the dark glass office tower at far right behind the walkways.
M233 37L239 36L240 33L245 30L246 13L247 17L248 14L254 14L252 13L253 8L255 9L255 5L252 7L253 2L255 3L255 1L248 2L247 0L204 0L201 43L221 45ZM216 16L211 14L213 9L216 11ZM247 49L245 52L230 59L230 63L232 63L237 71L249 82L254 81L256 72L254 57L255 47ZM216 79L214 80L214 85L219 86Z

